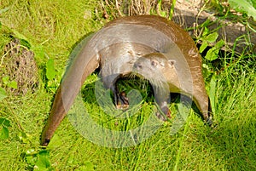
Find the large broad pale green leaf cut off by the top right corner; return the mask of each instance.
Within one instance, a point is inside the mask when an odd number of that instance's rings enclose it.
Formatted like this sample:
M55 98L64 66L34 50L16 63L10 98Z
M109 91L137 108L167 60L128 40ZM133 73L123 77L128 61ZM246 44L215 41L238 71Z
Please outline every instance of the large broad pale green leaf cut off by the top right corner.
M253 5L252 0L229 0L229 3L232 9L246 13L248 16L252 16L253 20L256 20L256 9L254 8L255 4Z

